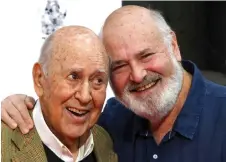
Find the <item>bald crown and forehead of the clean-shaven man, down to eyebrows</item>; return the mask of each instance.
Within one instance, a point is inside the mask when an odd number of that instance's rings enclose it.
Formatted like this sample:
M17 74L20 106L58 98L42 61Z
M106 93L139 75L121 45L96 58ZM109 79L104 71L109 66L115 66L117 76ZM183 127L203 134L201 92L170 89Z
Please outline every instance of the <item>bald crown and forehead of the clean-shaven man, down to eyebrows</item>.
M50 38L51 69L55 66L78 63L78 60L99 60L108 66L108 56L98 36L81 26L67 26L57 30ZM97 61L96 61L97 62Z

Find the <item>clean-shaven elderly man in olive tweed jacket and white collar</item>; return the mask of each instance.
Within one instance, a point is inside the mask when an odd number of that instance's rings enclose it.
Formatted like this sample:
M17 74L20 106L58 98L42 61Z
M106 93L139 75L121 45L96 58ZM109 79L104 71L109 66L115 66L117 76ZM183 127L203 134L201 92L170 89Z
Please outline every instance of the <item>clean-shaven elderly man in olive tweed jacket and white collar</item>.
M48 37L33 82L39 96L35 128L23 135L2 123L2 161L117 161L110 136L95 125L106 96L108 57L90 29L68 26Z

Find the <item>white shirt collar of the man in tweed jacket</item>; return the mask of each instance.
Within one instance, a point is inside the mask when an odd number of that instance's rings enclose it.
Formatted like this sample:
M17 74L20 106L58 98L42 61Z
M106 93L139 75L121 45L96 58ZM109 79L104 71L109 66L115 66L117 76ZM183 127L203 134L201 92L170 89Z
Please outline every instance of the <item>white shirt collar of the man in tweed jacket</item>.
M35 104L32 115L34 119L34 125L42 142L63 161L73 162L73 155L70 150L48 128L43 118L39 100ZM90 133L90 136L86 140L85 144L79 148L76 162L82 161L84 158L86 158L93 151L93 148L93 134Z

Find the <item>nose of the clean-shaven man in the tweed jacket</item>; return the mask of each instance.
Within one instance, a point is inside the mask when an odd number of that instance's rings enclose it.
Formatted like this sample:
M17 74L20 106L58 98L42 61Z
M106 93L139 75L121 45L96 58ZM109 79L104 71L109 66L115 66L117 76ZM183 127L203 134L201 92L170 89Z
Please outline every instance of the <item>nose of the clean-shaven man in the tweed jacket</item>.
M82 104L87 105L92 100L89 82L87 81L81 84L74 96Z

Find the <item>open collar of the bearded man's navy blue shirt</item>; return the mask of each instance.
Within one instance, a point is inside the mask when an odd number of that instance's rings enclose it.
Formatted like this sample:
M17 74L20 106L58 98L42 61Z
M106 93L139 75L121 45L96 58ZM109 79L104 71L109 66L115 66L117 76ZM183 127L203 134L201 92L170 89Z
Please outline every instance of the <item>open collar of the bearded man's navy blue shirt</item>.
M204 78L194 63L182 61L182 66L193 76L192 85L185 104L175 121L173 131L188 139L193 139L203 109L206 87ZM139 133L148 136L148 132L148 121L134 115L133 135Z

